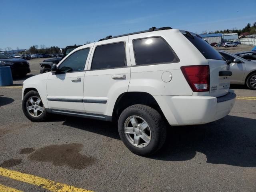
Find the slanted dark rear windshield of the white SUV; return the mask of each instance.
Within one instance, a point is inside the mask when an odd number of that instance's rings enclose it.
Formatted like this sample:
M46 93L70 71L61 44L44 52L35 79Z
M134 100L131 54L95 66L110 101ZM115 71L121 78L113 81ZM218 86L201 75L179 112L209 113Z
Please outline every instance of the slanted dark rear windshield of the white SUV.
M224 60L223 57L212 46L198 36L190 33L183 34L206 59Z

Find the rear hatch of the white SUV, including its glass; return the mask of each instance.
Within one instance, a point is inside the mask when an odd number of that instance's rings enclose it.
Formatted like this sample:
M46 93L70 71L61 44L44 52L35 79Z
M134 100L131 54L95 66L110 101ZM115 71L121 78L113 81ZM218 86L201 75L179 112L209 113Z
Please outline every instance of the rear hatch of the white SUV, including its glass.
M208 60L210 70L209 96L219 97L227 94L230 86L230 71L226 60L199 35L191 32L182 33Z

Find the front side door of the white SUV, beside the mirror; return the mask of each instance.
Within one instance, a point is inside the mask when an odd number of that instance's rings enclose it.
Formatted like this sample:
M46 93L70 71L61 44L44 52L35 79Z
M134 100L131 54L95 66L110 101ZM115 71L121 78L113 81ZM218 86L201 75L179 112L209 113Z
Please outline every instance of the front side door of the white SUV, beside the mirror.
M90 47L76 50L58 64L56 73L49 74L47 102L51 110L84 112L84 74L90 52Z

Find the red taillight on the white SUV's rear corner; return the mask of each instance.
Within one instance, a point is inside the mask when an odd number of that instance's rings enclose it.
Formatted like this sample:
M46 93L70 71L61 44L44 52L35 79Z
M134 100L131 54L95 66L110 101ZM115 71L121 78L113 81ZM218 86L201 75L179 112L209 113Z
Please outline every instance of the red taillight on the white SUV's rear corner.
M209 91L210 71L208 65L182 66L181 70L193 92Z

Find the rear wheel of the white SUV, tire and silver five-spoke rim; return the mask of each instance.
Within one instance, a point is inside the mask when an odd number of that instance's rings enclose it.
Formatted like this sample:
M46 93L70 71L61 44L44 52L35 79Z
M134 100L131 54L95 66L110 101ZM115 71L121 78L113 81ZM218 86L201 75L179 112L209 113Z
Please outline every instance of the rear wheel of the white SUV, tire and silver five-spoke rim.
M125 146L141 156L154 154L166 140L165 120L155 109L146 105L136 104L126 108L118 119L118 132ZM137 144L134 144L135 140Z

